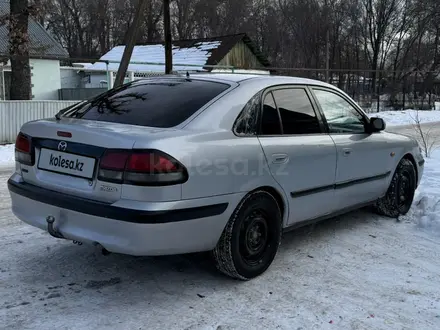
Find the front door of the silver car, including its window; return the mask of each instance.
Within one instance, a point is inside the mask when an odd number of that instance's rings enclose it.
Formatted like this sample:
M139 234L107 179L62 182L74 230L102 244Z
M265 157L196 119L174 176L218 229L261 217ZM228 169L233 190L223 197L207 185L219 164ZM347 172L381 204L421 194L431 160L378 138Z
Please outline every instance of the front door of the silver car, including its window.
M383 133L367 132L368 118L342 93L316 87L313 94L338 151L338 207L351 207L380 197L391 175L393 147Z

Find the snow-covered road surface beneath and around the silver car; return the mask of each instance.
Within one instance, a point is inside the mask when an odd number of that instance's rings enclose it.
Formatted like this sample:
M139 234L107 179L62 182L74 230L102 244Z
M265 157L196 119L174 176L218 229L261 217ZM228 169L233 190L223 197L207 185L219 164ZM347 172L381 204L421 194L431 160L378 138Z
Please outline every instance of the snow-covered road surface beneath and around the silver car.
M2 329L440 329L440 236L412 216L362 210L294 231L266 274L237 282L205 255L104 257L22 224L9 174L0 169Z

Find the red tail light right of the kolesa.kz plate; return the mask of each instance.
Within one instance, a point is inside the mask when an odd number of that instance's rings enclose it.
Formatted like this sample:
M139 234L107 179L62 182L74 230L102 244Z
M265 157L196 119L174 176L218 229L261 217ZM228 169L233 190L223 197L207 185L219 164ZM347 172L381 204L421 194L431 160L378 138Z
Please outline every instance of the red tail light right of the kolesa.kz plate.
M107 150L99 164L101 181L142 186L167 186L188 179L185 167L158 150Z

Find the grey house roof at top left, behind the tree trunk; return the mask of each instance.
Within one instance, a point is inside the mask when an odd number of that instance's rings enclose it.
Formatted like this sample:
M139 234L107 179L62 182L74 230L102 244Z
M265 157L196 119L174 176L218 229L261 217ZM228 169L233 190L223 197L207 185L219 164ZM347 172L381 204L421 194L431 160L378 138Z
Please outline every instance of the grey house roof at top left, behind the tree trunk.
M0 0L0 16L9 15L9 0ZM69 57L68 52L32 18L29 19L30 56ZM0 56L9 55L9 27L0 25Z

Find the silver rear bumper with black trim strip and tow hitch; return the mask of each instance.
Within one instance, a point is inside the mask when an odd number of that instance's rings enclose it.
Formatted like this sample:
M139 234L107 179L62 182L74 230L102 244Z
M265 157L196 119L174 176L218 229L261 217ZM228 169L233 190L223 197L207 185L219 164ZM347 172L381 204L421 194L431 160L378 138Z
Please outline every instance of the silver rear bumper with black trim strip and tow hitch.
M23 222L48 230L46 218L66 239L99 244L110 252L135 256L212 250L241 195L121 207L8 181L12 212Z

